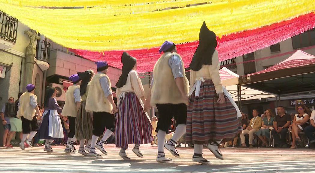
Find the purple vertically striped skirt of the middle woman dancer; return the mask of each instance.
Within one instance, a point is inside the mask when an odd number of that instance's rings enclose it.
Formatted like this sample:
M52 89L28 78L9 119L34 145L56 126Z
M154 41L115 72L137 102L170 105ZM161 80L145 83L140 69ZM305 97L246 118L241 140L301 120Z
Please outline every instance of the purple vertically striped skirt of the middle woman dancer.
M128 144L147 144L151 141L152 125L138 97L133 92L125 93L117 107L116 147L128 148Z

